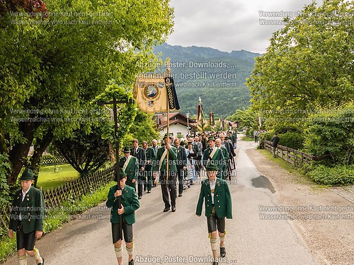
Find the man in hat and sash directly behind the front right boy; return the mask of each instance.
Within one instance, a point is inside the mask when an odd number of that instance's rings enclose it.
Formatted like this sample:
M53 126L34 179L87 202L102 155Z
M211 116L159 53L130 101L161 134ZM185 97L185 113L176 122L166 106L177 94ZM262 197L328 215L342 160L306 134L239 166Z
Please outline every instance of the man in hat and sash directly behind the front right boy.
M222 154L222 150L215 146L215 139L214 137L210 136L207 139L208 148L205 149L202 155L202 164L204 166L207 165L210 161L213 161L215 165L218 167L217 177L222 178L222 168L227 165L227 160L224 158Z

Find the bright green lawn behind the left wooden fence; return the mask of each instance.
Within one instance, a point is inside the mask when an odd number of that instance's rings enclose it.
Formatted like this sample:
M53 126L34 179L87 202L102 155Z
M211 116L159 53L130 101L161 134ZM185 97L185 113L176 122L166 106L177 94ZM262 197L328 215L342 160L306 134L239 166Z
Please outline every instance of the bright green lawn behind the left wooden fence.
M54 165L40 167L37 187L42 187L43 190L52 189L79 177L79 173L71 165L57 165L56 169L54 172Z

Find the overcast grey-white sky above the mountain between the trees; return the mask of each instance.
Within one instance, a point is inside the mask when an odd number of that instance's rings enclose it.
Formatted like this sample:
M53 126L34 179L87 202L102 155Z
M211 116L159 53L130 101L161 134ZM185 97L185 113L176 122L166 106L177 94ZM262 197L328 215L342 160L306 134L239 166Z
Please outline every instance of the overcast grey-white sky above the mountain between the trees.
M311 3L312 0L171 0L175 25L167 43L212 47L224 52L246 49L263 53L272 33L281 26L261 25L260 20L270 23L282 19L263 12L295 15Z

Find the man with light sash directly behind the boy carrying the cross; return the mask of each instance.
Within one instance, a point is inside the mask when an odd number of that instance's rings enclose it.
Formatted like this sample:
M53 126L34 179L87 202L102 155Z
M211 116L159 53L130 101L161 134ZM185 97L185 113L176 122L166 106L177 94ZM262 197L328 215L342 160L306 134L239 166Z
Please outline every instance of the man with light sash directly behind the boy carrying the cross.
M136 189L136 183L139 175L139 164L137 158L130 155L129 146L123 148L124 156L119 160L119 166L127 174L127 185Z

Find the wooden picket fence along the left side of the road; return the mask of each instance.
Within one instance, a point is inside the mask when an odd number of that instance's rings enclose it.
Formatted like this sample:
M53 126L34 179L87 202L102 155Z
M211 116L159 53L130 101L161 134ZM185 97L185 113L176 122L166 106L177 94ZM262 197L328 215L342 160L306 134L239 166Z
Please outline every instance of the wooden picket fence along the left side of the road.
M69 199L80 199L84 194L96 191L96 189L113 179L114 167L108 167L104 170L99 170L93 173L93 175L81 177L72 182L66 182L60 187L48 189L43 192L45 197L45 207L50 209L52 207L61 206L64 201L68 201ZM4 230L7 231L8 229L11 213L10 209L10 204L0 206L0 236L4 235Z

